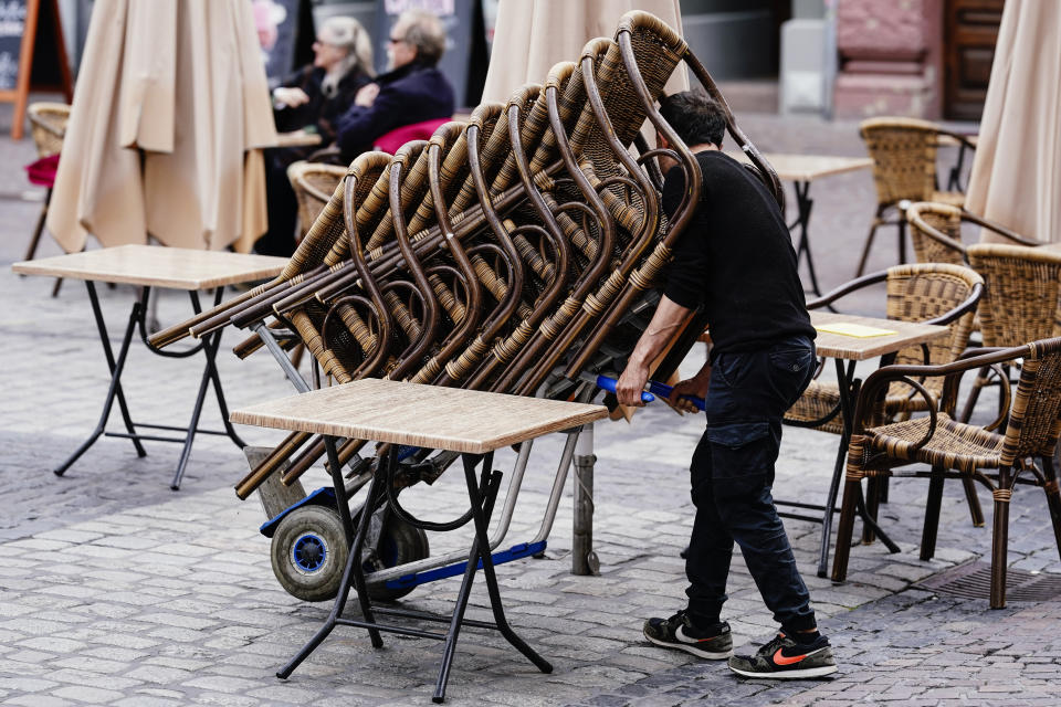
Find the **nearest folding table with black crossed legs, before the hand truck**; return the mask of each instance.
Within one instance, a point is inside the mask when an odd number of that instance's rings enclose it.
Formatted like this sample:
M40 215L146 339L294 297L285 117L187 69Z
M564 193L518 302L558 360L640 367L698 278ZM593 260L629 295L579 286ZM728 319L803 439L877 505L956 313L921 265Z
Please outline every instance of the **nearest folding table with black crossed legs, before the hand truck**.
M437 703L445 698L450 665L453 662L462 625L500 631L538 669L544 673L551 672L553 666L512 630L502 608L501 592L490 551L490 539L486 535L486 524L501 483L501 472L492 469L494 450L521 444L550 432L577 428L600 420L607 414L608 411L602 405L372 378L233 411L232 422L325 435L336 505L344 532L350 544L339 593L330 614L313 639L276 673L276 676L281 678L290 676L337 624L366 629L374 647L382 646L382 639L379 635L381 631L444 641L445 647L433 696ZM372 440L384 443L375 460L367 500L357 516L356 528L336 451L337 439ZM460 453L470 509L460 518L447 523L424 521L403 510L398 503L395 488L399 456L406 449L400 445ZM482 467L477 481L476 466ZM469 521L473 524L474 536L464 579L450 616L372 605L366 589L360 558L374 514L365 513L364 509L374 510L385 500L389 504L391 513L420 528L455 530ZM482 567L490 595L494 616L492 623L464 619L472 583L480 567ZM351 588L357 591L361 609L360 619L342 616ZM449 630L445 633L439 633L384 624L377 621L377 614L438 621L448 623Z

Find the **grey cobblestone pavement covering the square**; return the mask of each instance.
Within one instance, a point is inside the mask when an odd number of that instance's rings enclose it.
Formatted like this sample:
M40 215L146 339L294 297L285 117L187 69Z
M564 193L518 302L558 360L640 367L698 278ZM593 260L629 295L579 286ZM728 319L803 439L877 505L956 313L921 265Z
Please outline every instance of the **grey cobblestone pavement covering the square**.
M0 120L2 123L2 120ZM0 125L2 127L2 125ZM748 116L745 130L764 150L861 154L853 124ZM18 193L15 165L32 159L29 143L0 140L0 192ZM854 268L873 208L868 172L815 187L816 255L827 286ZM137 458L124 440L105 439L67 474L50 469L95 424L107 374L84 287L70 282L59 298L51 282L20 278L19 260L39 203L0 201L0 335L4 340L0 408L0 703L10 705L408 705L427 704L440 656L434 642L385 636L372 650L363 632L339 627L288 680L275 669L306 641L328 606L286 594L272 574L269 540L258 532L259 504L239 502L231 484L245 473L242 454L223 437L199 437L182 489L168 482L176 445L148 445ZM883 235L883 234L882 234ZM887 234L889 238L891 234ZM853 243L853 246L852 246ZM882 241L879 265L891 251ZM852 254L852 249L855 251ZM45 243L45 253L55 253ZM118 327L135 292L101 288L108 323ZM875 312L883 297L858 304ZM164 324L185 316L187 302L165 294ZM231 345L238 336L228 335ZM222 380L233 407L291 391L271 359L239 361L222 348ZM698 354L694 354L693 357ZM695 360L687 361L690 367ZM164 360L135 347L125 378L140 420L179 424L190 414L199 365ZM987 407L989 407L989 401ZM204 424L217 422L208 404ZM648 645L641 622L682 605L683 562L692 506L686 465L702 421L649 408L633 423L596 431L595 546L599 577L570 574L570 482L543 559L498 568L512 623L553 662L542 675L496 635L462 635L449 688L452 705L1055 705L1061 641L1053 630L1061 602L960 600L912 585L984 557L988 527L968 520L960 488L944 498L936 558L917 559L925 485L896 482L882 507L884 528L902 552L881 544L852 550L850 581L815 576L820 527L786 526L840 672L818 682L747 682L724 665ZM280 435L241 429L248 442ZM545 439L532 455L506 544L529 539L544 515L561 441ZM777 497L821 502L837 437L785 432ZM501 453L497 466L511 468ZM326 483L319 471L307 488ZM434 519L462 507L456 475L403 499ZM989 496L981 495L990 515ZM1061 573L1041 494L1015 497L1010 564ZM431 534L433 552L461 547L461 534ZM421 587L406 608L444 611L459 581ZM739 556L726 605L738 650L768 640L769 612ZM484 619L480 583L470 615ZM348 613L355 610L348 610ZM743 647L739 647L742 646Z

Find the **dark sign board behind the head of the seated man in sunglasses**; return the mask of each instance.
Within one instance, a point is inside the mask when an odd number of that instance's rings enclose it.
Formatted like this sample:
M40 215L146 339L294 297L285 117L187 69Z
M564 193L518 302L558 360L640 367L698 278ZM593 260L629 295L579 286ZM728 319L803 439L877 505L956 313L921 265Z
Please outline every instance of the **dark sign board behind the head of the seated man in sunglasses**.
M378 7L378 6L377 6ZM427 10L445 27L445 54L439 71L453 85L458 105L475 105L482 95L485 77L486 38L483 13L477 0L382 0L382 12L376 12L376 68L387 71L387 41L390 28L406 10ZM481 64L476 66L476 64ZM480 71L476 71L480 70ZM480 75L481 74L481 75Z

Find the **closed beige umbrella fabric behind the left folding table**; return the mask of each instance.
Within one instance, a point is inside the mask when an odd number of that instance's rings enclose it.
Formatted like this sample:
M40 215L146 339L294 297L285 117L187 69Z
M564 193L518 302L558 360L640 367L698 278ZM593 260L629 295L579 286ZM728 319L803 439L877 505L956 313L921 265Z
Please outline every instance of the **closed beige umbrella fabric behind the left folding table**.
M276 143L249 0L97 0L48 226L67 252L249 250Z

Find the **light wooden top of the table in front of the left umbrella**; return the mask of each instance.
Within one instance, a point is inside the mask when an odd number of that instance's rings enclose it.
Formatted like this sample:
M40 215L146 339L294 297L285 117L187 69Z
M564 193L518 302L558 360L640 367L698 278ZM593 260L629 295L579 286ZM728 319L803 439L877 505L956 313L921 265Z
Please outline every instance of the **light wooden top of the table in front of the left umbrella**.
M286 257L198 251L162 245L118 245L11 266L25 275L71 277L172 289L208 289L221 285L275 277Z

